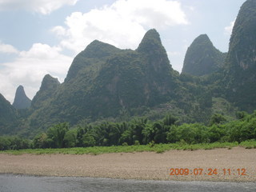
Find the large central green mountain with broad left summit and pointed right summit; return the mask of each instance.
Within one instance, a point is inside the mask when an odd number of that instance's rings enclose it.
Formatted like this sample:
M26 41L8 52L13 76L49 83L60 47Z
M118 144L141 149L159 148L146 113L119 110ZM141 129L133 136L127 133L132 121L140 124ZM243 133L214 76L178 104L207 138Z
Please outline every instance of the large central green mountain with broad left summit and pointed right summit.
M44 104L35 107L40 88L28 123L74 125L83 118L117 117L122 110L130 114L138 107L167 102L174 94L176 76L156 30L145 34L137 50L120 50L95 40L74 58L54 94L45 95Z

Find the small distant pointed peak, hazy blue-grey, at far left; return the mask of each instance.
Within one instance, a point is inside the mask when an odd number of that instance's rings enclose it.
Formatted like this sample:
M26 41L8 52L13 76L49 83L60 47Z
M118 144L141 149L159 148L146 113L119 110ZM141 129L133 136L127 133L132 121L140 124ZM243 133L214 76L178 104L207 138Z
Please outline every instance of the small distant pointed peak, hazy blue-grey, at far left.
M13 106L18 110L30 108L31 100L30 98L26 97L23 86L18 86L16 90Z

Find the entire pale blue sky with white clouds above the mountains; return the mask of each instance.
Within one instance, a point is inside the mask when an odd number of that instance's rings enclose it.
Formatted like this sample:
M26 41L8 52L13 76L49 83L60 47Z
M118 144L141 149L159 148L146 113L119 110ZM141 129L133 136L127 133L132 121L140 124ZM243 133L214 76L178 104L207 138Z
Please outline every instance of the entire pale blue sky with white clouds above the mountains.
M19 85L33 98L45 74L63 82L76 54L98 39L136 49L158 30L170 64L181 72L200 34L226 52L245 0L0 0L0 93L13 102Z

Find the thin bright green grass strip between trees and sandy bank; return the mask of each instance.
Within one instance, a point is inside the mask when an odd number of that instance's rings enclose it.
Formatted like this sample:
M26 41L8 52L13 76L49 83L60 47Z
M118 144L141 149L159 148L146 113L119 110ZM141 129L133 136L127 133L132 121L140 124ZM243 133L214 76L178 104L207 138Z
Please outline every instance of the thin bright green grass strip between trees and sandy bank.
M256 149L256 141L250 140L246 142L214 142L214 143L199 143L199 144L186 144L186 143L171 143L171 144L155 144L139 145L139 146L92 146L92 147L74 147L63 149L33 149L33 150L3 150L1 154L110 154L110 153L134 153L151 151L162 154L168 150L213 150L216 148L227 148L231 150L234 146L242 146L246 149Z

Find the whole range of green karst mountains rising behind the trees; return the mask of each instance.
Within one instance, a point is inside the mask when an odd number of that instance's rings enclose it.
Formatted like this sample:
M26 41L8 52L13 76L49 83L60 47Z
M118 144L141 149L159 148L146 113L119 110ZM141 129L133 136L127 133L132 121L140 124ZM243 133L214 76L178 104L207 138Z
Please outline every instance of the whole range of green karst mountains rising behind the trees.
M178 74L170 65L158 31L152 29L136 50L91 42L74 58L64 82L45 76L26 113L21 115L5 99L0 99L0 105L21 123L20 130L27 129L22 134L36 134L58 122L78 126L138 116L159 119L165 114L178 116L179 123L208 123L215 113L234 119L238 110L256 109L255 6L251 0L242 5L225 62L219 62L225 54L206 34L194 40L196 45L191 44L191 54L186 56L188 62L194 61L190 66L201 66L196 72L206 68L202 74ZM8 125L10 119L0 118L8 127L0 125L0 129L8 134L12 127L9 133L14 133L14 124Z

